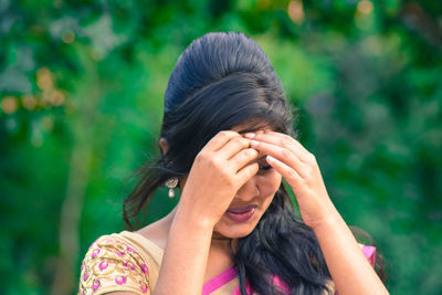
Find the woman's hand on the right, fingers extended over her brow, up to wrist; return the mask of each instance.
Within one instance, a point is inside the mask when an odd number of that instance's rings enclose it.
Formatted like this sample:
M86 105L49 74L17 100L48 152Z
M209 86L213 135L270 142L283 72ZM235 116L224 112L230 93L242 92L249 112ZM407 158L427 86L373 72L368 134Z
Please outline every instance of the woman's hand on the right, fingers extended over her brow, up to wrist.
M315 156L296 139L275 131L257 131L245 137L253 139L251 146L266 154L267 162L292 187L305 224L315 229L337 213Z

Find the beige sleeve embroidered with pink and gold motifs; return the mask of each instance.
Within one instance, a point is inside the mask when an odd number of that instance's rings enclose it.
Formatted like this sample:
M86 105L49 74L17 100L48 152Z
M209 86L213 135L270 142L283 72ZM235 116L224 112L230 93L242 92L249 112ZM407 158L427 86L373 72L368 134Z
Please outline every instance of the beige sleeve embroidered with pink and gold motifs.
M128 243L104 235L91 245L83 260L78 295L117 291L149 295L148 265Z

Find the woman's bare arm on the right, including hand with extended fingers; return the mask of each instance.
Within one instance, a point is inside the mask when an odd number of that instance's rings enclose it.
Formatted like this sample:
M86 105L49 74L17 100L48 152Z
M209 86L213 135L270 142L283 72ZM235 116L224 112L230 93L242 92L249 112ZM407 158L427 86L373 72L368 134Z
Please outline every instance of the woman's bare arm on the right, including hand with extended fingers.
M291 185L304 222L315 232L339 295L388 294L328 197L315 157L278 133L248 134L251 146Z

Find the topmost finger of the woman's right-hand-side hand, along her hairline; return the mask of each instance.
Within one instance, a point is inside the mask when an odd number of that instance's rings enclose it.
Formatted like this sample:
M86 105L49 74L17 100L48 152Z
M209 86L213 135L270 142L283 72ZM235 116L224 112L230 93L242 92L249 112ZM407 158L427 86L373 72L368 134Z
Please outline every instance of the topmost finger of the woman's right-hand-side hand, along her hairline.
M293 154L295 154L301 161L307 162L308 160L308 150L306 150L299 141L294 139L293 137L275 133L275 131L265 131L265 133L255 133L255 134L246 134L245 138L250 138L257 141L264 141L267 144L273 144L280 146L282 148L290 149Z

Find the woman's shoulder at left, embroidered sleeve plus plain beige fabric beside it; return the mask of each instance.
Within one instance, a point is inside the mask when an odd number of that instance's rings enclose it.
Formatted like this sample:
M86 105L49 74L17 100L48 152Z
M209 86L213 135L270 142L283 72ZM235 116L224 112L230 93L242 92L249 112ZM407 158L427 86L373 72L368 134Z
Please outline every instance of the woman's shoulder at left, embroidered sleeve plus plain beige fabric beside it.
M83 260L78 294L149 294L150 276L156 276L161 256L161 249L137 233L102 235Z

